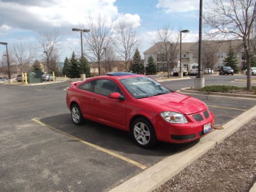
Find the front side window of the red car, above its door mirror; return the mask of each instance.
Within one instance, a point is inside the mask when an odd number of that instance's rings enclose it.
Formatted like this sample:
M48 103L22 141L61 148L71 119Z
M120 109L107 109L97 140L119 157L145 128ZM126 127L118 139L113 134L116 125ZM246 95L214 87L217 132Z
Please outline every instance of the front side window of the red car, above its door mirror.
M122 95L115 82L108 79L98 79L95 81L94 93L109 96L109 94L118 92Z

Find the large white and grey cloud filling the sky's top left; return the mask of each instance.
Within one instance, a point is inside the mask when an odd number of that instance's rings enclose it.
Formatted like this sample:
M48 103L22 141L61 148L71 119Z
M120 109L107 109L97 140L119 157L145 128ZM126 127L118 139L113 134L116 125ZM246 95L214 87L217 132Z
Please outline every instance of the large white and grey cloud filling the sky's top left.
M89 14L91 17L101 14L114 20L118 15L114 2L115 0L0 1L0 26L33 31L56 27L69 30L86 23Z

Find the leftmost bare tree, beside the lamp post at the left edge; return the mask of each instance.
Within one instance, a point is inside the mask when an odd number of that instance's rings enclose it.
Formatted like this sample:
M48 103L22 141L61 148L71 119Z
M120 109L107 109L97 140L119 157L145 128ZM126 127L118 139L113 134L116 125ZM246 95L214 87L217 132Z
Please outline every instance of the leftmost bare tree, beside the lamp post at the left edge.
M36 52L31 44L17 42L11 46L11 54L19 71L26 72L30 69L30 64L33 62Z

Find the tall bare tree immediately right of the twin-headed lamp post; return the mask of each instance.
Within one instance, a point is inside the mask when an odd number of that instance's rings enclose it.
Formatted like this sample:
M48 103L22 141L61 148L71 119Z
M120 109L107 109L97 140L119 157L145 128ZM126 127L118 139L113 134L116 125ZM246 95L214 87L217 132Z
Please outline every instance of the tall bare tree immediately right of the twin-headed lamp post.
M101 15L98 15L96 22L89 16L87 25L90 29L89 33L84 34L84 40L88 48L87 57L97 62L100 75L100 61L104 54L103 48L108 49L112 41L112 25L108 25L106 16Z

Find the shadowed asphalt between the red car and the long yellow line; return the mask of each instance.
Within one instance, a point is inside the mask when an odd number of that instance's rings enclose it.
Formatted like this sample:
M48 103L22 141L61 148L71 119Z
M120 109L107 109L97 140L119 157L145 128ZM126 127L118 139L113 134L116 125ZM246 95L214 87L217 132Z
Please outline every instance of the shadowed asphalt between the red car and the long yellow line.
M129 137L129 133L125 131L89 120L83 125L75 125L70 114L50 116L40 121L57 130L147 165L155 164L167 156L187 150L199 142L199 140L184 144L159 142L154 148L145 149L137 146ZM76 141L73 138L67 139L67 142Z

